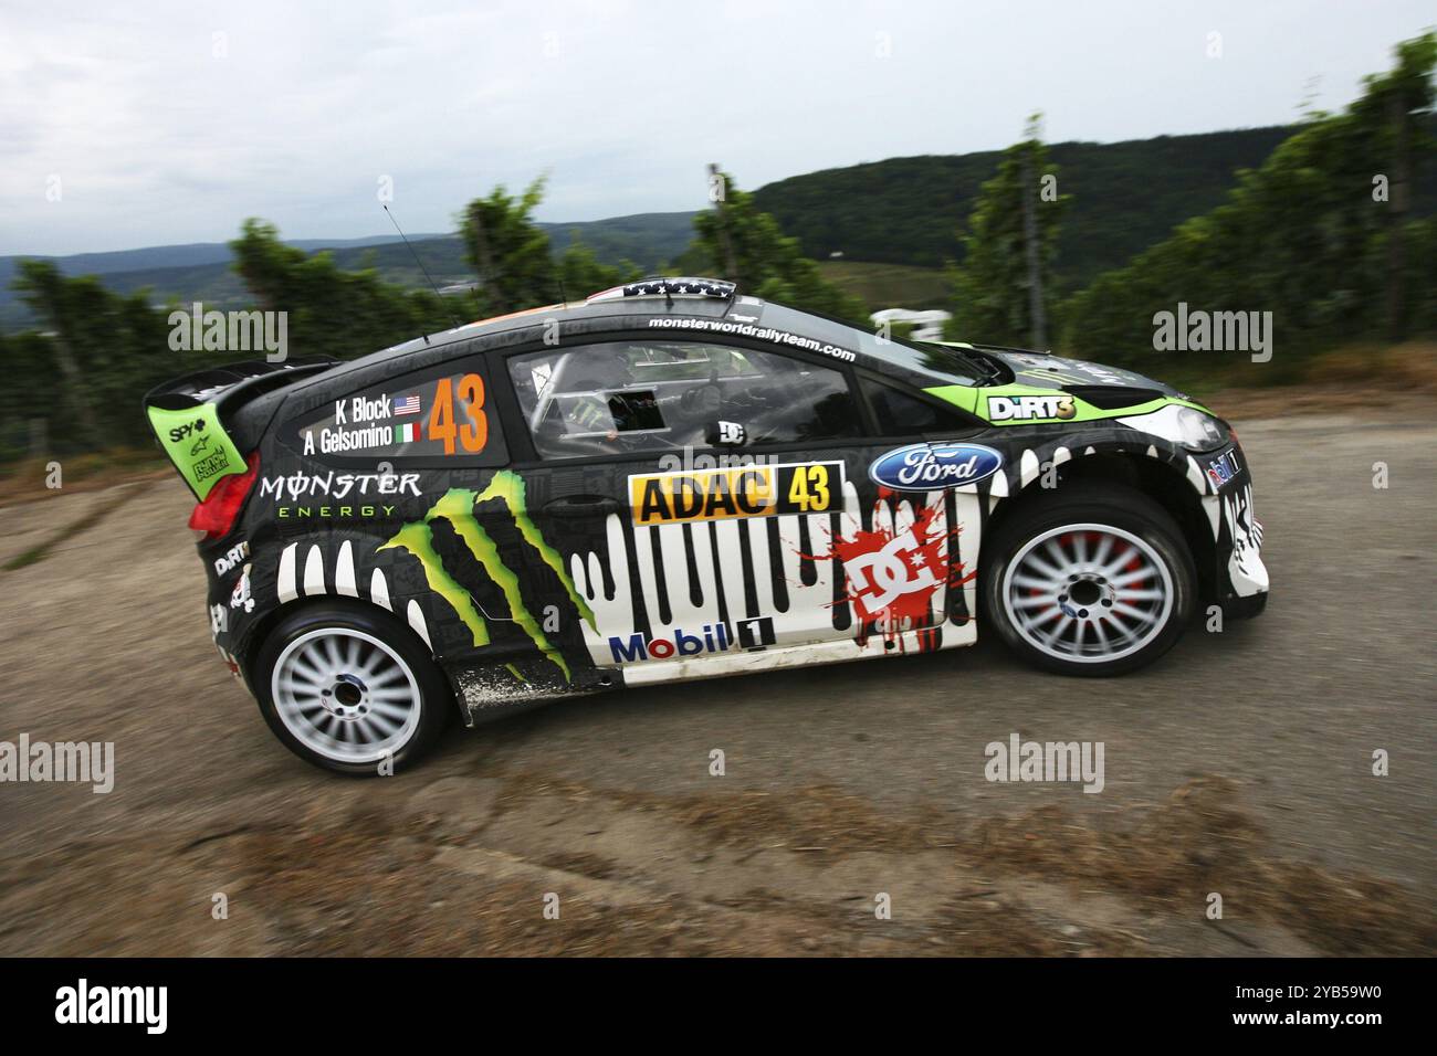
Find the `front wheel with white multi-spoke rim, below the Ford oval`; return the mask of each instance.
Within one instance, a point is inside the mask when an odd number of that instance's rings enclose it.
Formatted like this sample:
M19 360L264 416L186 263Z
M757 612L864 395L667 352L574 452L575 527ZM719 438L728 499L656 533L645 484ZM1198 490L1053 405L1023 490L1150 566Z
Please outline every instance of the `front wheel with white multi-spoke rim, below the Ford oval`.
M1161 506L1122 484L1073 481L1023 500L999 524L980 580L986 626L1017 657L1065 675L1105 677L1173 648L1191 616L1197 576L1183 532ZM1170 603L1138 599L1155 592Z

